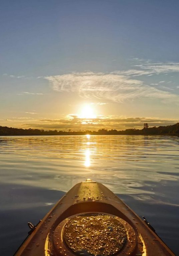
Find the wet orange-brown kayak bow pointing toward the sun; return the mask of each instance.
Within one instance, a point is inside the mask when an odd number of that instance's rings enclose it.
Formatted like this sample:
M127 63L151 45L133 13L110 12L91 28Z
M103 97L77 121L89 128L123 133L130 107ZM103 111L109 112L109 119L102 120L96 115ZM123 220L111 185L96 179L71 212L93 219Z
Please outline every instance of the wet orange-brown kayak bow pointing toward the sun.
M31 228L15 256L174 256L144 218L101 183L69 190Z

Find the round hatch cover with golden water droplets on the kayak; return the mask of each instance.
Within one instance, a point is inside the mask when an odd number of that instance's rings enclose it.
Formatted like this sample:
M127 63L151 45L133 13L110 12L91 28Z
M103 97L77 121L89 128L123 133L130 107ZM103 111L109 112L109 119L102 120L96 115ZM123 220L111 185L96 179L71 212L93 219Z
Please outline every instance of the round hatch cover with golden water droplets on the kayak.
M59 230L60 228L60 230ZM135 246L135 233L123 219L103 213L87 213L66 219L54 233L56 249L62 254L63 245L80 256L110 256L122 251L130 255ZM62 231L63 230L63 231ZM63 233L62 236L59 233ZM132 235L133 241L128 239ZM59 250L60 249L60 250Z

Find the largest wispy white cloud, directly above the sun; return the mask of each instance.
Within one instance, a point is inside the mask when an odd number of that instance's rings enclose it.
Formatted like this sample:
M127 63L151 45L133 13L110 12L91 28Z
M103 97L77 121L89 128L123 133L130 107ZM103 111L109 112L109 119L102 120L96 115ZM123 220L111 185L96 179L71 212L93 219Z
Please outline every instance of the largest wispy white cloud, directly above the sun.
M132 74L132 72L134 74L134 70L114 71L108 74L87 71L47 76L45 79L50 82L55 91L77 92L85 98L95 97L114 102L123 102L138 97L177 99L174 94L146 85L143 81L130 79L127 74ZM139 74L138 70L135 72Z

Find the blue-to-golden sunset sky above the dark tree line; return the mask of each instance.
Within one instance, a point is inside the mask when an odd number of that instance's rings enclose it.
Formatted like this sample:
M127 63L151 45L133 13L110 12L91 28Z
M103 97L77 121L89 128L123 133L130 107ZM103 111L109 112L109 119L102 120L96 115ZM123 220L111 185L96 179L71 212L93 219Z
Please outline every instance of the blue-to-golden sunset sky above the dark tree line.
M179 122L178 0L0 0L0 125Z

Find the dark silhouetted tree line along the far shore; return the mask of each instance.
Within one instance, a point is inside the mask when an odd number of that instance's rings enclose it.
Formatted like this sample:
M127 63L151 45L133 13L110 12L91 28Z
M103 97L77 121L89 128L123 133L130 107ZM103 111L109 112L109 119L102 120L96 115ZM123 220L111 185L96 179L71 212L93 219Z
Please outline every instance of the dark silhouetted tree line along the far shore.
M144 134L179 134L179 123L174 125L149 127L144 123L143 129L126 129L123 131L99 129L98 131L57 131L43 129L21 129L7 126L0 126L0 136L40 136L40 135L144 135Z

